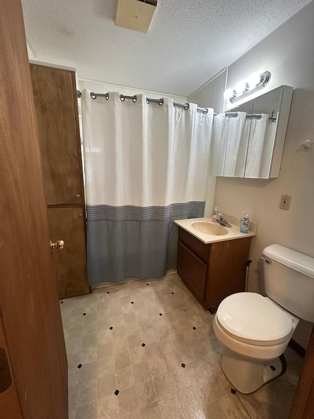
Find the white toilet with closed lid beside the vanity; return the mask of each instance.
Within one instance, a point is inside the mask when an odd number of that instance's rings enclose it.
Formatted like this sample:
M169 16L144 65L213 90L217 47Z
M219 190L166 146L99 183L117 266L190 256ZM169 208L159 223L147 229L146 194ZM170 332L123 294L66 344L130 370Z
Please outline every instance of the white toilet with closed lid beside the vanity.
M282 355L300 319L314 322L314 258L280 245L264 249L268 297L239 292L213 320L221 367L236 390L251 393L286 370Z

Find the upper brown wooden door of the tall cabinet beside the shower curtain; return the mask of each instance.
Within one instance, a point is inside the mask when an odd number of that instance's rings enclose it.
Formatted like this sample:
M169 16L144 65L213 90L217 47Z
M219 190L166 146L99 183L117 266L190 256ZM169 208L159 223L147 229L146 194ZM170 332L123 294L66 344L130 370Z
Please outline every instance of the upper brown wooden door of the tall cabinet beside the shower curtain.
M81 204L75 73L30 64L47 205Z

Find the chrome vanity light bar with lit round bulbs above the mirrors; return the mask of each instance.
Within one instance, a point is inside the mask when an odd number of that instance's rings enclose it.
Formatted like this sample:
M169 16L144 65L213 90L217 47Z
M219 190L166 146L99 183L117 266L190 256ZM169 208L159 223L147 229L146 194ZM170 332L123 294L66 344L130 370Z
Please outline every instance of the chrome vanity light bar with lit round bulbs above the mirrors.
M234 89L225 90L224 98L231 103L234 103L237 100L262 89L262 87L265 87L270 80L270 76L271 74L269 71L265 71L262 74L259 72L253 73L247 80L241 80L235 84Z

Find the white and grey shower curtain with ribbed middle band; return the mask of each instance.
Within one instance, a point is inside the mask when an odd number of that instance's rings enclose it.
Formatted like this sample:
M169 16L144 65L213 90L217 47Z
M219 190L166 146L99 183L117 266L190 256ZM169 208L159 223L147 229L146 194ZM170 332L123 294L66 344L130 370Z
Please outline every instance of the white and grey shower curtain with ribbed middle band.
M176 268L174 220L204 216L213 110L207 114L82 92L91 285Z

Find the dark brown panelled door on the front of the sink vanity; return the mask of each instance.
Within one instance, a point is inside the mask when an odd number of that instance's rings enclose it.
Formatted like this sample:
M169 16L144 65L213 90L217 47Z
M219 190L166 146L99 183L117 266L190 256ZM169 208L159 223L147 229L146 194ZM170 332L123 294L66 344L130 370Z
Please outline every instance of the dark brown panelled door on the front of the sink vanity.
M192 294L204 303L207 264L178 241L178 274Z

